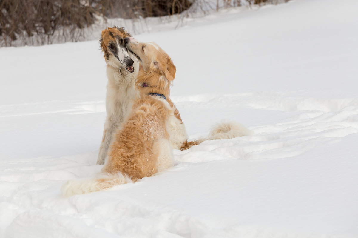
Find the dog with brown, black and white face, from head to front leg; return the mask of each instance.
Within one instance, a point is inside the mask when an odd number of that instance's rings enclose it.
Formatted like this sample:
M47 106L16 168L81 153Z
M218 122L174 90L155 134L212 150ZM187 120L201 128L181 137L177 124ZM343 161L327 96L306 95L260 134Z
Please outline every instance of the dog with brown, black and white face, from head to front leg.
M108 148L112 141L113 132L124 122L131 109L132 100L137 95L135 80L139 63L133 61L125 47L124 39L131 35L124 28L108 28L102 30L100 44L104 59L107 63L107 94L106 94L106 122L98 153L97 164L103 165Z

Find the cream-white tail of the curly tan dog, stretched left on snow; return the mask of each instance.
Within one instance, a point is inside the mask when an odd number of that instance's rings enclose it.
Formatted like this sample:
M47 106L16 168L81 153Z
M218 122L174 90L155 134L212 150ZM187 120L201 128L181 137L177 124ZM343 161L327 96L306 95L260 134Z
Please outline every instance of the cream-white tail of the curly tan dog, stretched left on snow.
M68 180L62 185L61 191L63 196L68 197L76 194L101 191L119 184L128 184L131 182L132 180L122 173L103 173L96 178Z

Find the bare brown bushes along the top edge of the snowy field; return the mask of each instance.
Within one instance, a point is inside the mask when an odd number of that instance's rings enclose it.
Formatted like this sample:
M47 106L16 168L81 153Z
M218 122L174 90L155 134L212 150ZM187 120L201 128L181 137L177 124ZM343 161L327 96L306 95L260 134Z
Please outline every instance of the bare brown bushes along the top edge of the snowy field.
M0 46L11 46L18 39L23 44L50 44L58 37L78 41L85 38L81 29L95 23L97 16L133 19L173 15L187 10L195 1L197 5L205 4L205 0L0 0ZM279 0L222 1L225 6L241 6L243 2Z

